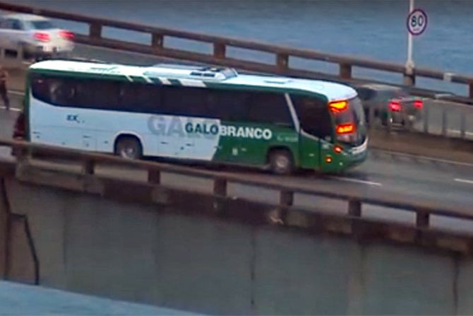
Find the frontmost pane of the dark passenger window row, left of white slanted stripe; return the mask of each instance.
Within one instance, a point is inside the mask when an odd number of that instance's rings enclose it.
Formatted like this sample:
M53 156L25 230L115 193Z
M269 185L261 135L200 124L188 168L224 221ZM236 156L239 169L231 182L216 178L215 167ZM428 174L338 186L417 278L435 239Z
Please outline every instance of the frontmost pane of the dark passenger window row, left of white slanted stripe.
M251 92L249 121L292 127L292 117L282 93Z

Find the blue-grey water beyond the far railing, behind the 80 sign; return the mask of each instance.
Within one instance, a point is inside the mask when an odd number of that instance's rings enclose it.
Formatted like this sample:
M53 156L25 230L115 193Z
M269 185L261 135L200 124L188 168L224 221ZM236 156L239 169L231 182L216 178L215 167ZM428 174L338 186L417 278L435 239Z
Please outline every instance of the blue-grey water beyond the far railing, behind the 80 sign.
M11 1L11 0L10 0ZM12 1L13 2L13 1ZM386 62L404 63L407 57L405 18L408 0L15 0L58 11L88 16L138 22L198 33L239 37L321 52L367 57ZM416 66L473 75L473 16L471 0L417 0L429 16L426 32L414 39ZM85 32L79 25L61 21L74 31ZM149 36L104 30L112 37L127 37L148 42ZM210 46L192 42L167 42L209 51ZM268 62L273 57L230 49L229 54ZM335 66L306 60L291 60L298 68L337 71ZM354 74L378 76L400 82L399 75L354 69ZM452 89L450 84L419 81L421 86ZM466 93L464 86L453 88Z

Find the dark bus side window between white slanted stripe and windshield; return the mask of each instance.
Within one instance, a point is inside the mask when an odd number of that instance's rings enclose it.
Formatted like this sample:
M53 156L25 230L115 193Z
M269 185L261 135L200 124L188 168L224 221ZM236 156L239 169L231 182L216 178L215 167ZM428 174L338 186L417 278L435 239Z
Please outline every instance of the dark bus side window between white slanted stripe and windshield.
M333 136L332 117L325 100L291 95L301 129L321 139Z

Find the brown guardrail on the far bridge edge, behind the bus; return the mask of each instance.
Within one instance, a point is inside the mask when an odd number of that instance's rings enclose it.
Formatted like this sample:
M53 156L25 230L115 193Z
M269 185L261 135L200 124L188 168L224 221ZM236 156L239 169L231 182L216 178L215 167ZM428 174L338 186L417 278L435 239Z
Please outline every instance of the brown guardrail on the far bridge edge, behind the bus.
M76 42L100 47L125 49L130 52L140 52L145 54L157 55L160 57L185 59L193 62L233 66L239 69L245 69L249 71L282 74L286 76L326 79L344 83L373 83L373 80L368 80L366 78L354 78L352 76L352 69L354 67L378 71L388 71L396 74L402 74L402 76L404 77L404 85L411 87L410 90L412 93L429 98L433 98L435 95L438 95L438 91L416 87L415 81L417 77L432 78L452 83L462 83L467 85L469 88L468 96L448 95L445 96L443 100L473 104L472 76L464 76L460 74L453 74L450 72L424 68L416 68L414 74L409 75L406 74L405 66L402 64L379 62L371 59L353 58L337 54L325 54L323 52L316 52L309 49L294 49L290 47L263 44L261 42L253 42L249 40L239 40L228 37L203 35L200 33L192 33L181 30L172 30L169 28L157 28L138 23L113 21L104 18L91 18L89 16L82 16L73 13L64 13L32 6L22 6L18 4L8 4L5 2L0 2L0 9L4 11L32 13L47 16L49 18L59 18L67 21L86 23L88 24L89 28L88 34L76 35ZM118 28L122 30L131 30L149 34L151 40L148 45L143 45L136 42L126 42L123 40L114 40L106 38L102 33L104 28ZM210 54L203 54L200 52L193 52L191 50L186 49L176 49L172 47L167 47L165 45L165 42L166 39L169 37L211 44L212 52ZM230 47L250 49L255 52L265 52L273 54L275 57L275 63L265 64L262 62L250 62L248 60L228 57L227 50ZM328 62L330 64L337 64L339 67L338 76L333 74L324 74L318 71L294 69L289 65L289 59L291 57L299 57L303 59ZM400 84L399 86L402 86L402 84Z

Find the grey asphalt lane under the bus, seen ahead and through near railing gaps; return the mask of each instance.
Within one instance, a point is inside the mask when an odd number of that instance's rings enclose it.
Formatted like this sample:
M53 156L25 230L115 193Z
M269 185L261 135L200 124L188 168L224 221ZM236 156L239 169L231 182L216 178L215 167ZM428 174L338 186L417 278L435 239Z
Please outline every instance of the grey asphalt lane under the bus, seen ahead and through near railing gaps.
M12 95L18 102L19 98ZM17 103L18 104L18 103ZM0 137L11 137L11 130L18 110L6 111L0 107ZM11 159L8 148L0 147L1 159ZM80 165L71 163L47 163L36 161L44 168L62 168L80 172ZM205 168L202 165L198 168ZM304 172L292 177L277 177L260 170L224 168L227 172L239 172L249 179L268 180L297 185L299 187L327 189L333 192L357 193L366 197L399 197L406 201L429 201L439 207L455 206L473 212L473 165L448 163L433 159L418 159L407 155L393 155L382 151L371 151L363 165L349 170L344 175L328 176ZM126 170L100 166L97 175L146 181L147 174L141 170ZM212 183L196 177L165 173L162 183L172 187L200 189L210 192ZM269 189L254 189L247 185L230 184L228 193L236 197L248 197L260 201L277 202L277 192ZM314 207L329 213L346 213L347 202L299 194L294 197L297 206ZM364 205L363 216L389 219L402 223L414 223L414 213L379 206ZM431 224L436 227L473 231L473 223L433 216Z

